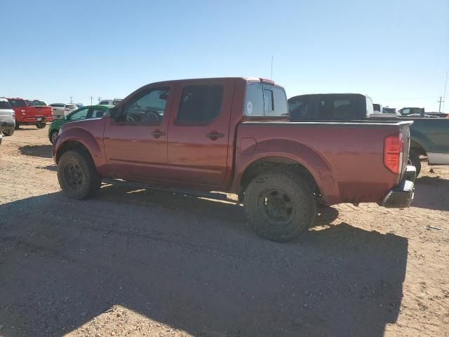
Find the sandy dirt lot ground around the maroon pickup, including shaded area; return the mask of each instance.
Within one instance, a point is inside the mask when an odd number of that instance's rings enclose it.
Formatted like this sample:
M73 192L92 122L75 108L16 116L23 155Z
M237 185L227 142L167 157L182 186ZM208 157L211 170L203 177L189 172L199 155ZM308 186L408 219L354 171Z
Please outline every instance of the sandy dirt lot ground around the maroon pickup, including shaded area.
M278 244L232 201L68 200L47 131L0 147L1 336L449 336L449 167L410 209L322 209Z

